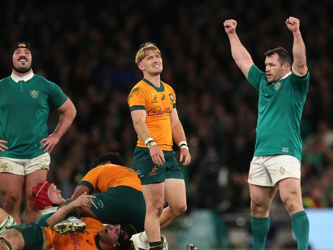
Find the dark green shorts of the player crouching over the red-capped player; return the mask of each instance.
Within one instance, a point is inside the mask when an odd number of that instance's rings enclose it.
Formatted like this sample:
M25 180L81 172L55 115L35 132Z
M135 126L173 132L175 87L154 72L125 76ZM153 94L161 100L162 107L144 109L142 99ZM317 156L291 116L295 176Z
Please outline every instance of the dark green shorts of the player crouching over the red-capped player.
M138 232L144 231L145 202L142 192L130 186L116 186L94 196L91 212L103 222L132 223Z

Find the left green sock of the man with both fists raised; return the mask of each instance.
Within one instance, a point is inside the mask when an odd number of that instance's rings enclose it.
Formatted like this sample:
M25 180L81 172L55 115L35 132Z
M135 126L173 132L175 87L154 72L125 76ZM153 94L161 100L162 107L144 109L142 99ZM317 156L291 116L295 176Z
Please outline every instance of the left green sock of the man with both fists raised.
M264 250L266 236L269 231L269 217L256 218L251 216L251 229L253 235L253 250Z

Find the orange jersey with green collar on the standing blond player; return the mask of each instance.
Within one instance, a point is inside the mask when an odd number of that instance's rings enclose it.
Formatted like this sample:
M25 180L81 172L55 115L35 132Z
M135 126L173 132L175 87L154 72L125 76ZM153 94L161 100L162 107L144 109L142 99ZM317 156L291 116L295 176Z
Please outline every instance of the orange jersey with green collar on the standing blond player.
M172 150L172 132L170 114L176 108L176 95L171 86L161 81L157 88L143 78L136 84L128 96L130 111L145 110L145 124L152 138L161 150ZM138 137L138 147L147 148Z

